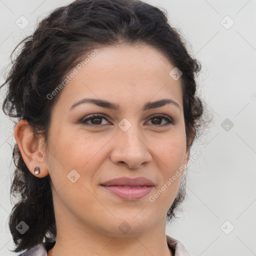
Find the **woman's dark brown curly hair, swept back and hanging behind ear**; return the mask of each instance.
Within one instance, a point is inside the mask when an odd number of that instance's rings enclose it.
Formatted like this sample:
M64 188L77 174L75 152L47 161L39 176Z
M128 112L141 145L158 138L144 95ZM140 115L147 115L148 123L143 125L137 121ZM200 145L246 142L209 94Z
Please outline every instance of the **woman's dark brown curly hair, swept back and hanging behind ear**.
M51 100L47 94L81 61L81 56L95 47L122 43L152 46L182 71L186 145L190 149L198 136L204 111L195 81L201 64L188 53L180 31L168 23L167 12L140 0L76 0L51 11L11 53L11 69L0 86L7 85L3 112L9 117L26 119L34 135L42 136L47 143L51 109L61 92ZM13 251L18 252L35 247L43 239L54 241L56 224L49 175L35 177L17 143L12 154L15 171L10 194L18 195L19 201L10 213L9 229L16 245ZM182 175L176 197L167 211L167 221L176 217L184 197ZM24 234L15 228L21 220L29 225Z

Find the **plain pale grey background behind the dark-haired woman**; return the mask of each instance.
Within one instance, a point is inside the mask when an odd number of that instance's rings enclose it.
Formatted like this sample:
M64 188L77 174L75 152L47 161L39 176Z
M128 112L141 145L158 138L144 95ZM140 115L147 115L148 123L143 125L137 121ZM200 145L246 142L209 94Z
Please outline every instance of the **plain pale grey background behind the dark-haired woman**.
M1 83L15 45L49 11L69 2L0 0ZM213 116L191 150L191 155L196 150L201 155L187 169L183 212L166 233L193 256L256 255L256 2L147 2L167 10L170 23L182 30L188 50L201 61L199 92ZM25 28L15 23L20 16L29 21ZM3 94L1 90L1 104ZM13 242L7 224L14 140L13 123L0 111L0 256L16 254L8 250Z

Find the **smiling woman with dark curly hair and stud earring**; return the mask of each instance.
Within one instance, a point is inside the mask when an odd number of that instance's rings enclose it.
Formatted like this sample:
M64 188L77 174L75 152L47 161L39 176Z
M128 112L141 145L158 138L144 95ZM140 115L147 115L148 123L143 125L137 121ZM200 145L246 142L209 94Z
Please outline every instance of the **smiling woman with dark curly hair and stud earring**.
M189 255L165 234L203 113L200 64L159 8L76 0L52 11L3 85L19 255ZM2 85L2 86L3 86Z

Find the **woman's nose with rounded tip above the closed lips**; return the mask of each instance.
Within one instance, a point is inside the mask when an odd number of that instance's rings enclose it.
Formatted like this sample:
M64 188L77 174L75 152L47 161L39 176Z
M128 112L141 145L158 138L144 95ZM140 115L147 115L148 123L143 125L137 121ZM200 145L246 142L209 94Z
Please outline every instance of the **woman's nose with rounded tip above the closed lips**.
M111 161L128 168L147 165L151 162L152 155L144 141L142 133L135 125L131 125L126 131L118 128L110 155Z

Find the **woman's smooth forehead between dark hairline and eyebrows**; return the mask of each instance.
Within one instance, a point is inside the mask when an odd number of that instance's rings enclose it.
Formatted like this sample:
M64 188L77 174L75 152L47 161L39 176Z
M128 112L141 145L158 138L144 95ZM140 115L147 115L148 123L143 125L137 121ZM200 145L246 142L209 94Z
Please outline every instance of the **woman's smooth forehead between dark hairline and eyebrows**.
M75 73L61 91L58 104L69 109L74 101L93 97L122 106L168 96L182 107L180 79L169 72L167 57L148 45L119 45L86 53L70 72ZM86 61L85 61L86 60ZM67 74L67 75L68 75Z

